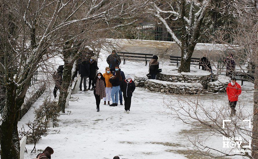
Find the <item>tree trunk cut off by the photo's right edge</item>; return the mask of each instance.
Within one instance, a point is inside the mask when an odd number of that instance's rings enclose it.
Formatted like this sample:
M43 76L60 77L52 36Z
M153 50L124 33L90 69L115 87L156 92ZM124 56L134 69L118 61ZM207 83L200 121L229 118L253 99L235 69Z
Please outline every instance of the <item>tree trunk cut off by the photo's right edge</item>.
M252 128L252 157L258 158L258 68L255 68L255 91L253 108L253 128Z

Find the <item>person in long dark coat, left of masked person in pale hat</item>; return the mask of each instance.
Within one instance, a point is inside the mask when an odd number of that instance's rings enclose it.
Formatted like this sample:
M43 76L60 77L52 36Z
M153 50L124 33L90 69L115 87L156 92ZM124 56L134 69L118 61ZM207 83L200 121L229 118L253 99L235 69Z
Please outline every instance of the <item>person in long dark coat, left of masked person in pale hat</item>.
M83 80L83 91L87 91L87 78L90 76L90 63L87 57L81 56L79 59L79 74L81 75L81 82L80 82L80 91L82 90L82 80Z

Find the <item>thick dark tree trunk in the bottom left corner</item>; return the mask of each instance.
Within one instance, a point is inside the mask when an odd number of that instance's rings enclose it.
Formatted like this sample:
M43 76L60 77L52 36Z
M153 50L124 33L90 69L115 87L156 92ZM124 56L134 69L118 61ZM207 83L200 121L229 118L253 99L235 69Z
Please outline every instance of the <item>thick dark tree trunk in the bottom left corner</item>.
M16 139L13 140L12 137L17 110L15 102L17 86L12 80L7 81L7 83L8 85L6 85L6 103L3 111L3 121L0 126L0 155L1 158L4 159L14 159L20 158L20 153L18 153L18 150L16 149L17 147L19 148L20 145L17 145ZM13 141L15 141L16 145L14 145Z

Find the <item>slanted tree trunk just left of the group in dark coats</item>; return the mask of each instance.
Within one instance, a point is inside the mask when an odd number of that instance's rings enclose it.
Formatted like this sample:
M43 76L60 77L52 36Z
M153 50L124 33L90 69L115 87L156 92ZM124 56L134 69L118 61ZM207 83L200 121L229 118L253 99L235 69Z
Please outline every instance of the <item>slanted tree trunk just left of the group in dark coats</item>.
M65 106L66 106L66 98L68 96L68 88L70 86L71 77L72 77L72 63L64 62L63 68L63 82L61 84L58 106L61 108L62 113L65 113Z

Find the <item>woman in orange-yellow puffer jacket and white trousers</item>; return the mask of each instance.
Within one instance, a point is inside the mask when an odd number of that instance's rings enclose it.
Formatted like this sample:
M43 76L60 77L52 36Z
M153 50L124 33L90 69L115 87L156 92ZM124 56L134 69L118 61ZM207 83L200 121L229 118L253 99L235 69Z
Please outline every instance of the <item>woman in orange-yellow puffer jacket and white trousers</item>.
M112 90L112 84L109 82L109 79L112 77L112 73L110 71L109 67L106 67L106 73L103 73L103 77L106 81L106 97L103 98L104 105L106 105L106 101L108 99L108 105L110 105L110 97L111 97L111 90Z

